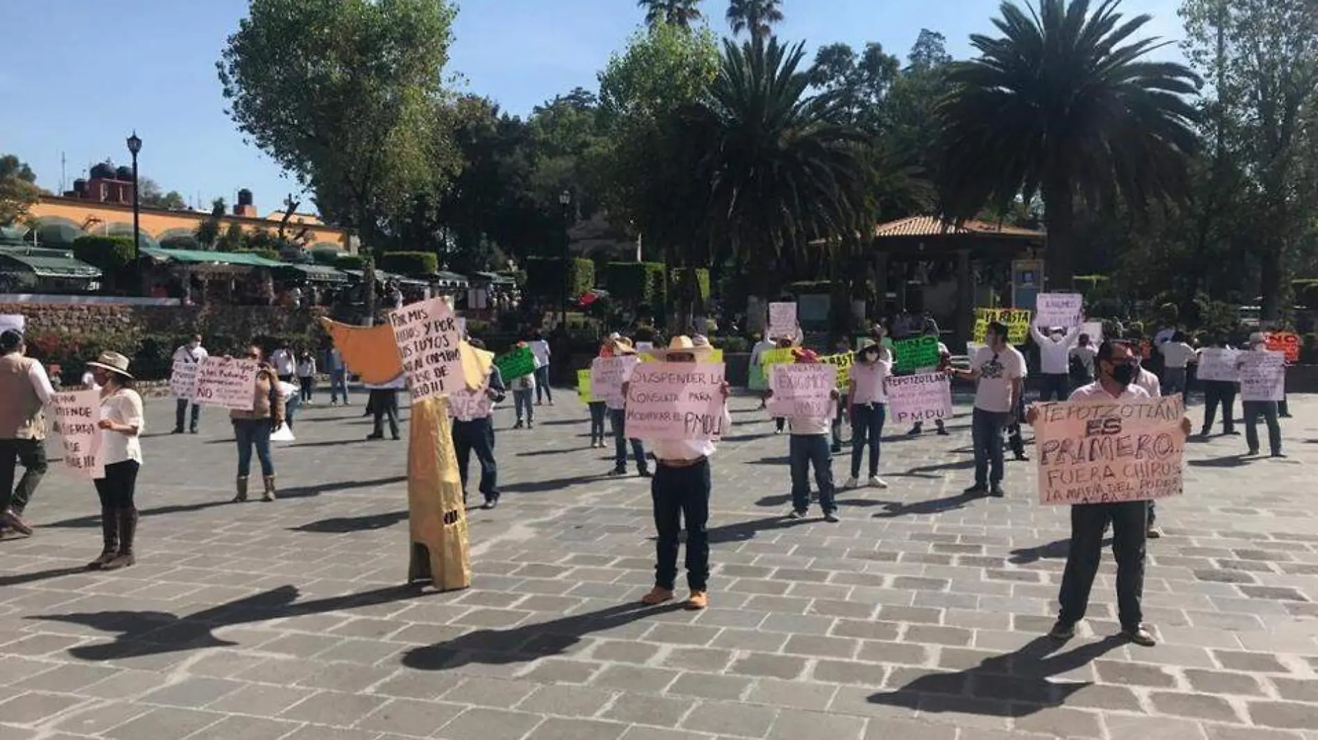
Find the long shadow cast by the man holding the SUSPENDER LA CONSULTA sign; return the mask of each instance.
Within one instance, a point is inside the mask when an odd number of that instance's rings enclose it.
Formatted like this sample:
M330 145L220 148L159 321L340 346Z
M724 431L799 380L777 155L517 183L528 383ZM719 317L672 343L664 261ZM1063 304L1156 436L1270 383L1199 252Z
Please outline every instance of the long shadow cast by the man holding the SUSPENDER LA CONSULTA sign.
M511 629L477 629L447 643L414 648L403 654L403 665L416 670L447 670L471 664L531 662L563 654L593 632L679 608L681 604L676 603L650 607L638 602Z

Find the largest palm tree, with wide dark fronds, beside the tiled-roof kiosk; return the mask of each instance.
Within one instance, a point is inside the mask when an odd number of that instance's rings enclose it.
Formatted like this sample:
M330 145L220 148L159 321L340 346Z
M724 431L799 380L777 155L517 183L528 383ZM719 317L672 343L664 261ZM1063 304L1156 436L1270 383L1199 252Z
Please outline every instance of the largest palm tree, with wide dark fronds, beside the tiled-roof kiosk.
M1049 287L1072 279L1078 205L1123 201L1144 211L1185 191L1197 149L1198 78L1149 62L1156 38L1132 41L1147 14L1123 20L1119 0L1040 0L1027 14L1002 4L1002 37L971 36L979 58L953 63L940 103L944 211L970 217L1036 192L1045 204Z

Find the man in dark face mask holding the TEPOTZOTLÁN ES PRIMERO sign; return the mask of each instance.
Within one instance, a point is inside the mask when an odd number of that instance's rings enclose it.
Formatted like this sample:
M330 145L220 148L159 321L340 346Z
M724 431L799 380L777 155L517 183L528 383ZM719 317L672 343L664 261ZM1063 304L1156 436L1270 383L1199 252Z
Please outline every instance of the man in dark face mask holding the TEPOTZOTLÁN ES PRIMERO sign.
M1148 400L1148 391L1135 383L1136 365L1131 348L1123 342L1104 341L1098 348L1098 381L1075 388L1072 402L1139 402ZM1033 424L1039 410L1031 407L1027 421ZM1190 433L1190 420L1181 420L1181 431ZM1147 544L1148 507L1145 502L1115 502L1075 504L1072 507L1070 549L1057 600L1061 611L1049 636L1070 640L1075 624L1085 618L1089 594L1094 587L1098 564L1103 552L1103 532L1112 527L1112 554L1116 558L1116 612L1122 624L1120 636L1136 645L1157 644L1152 631L1144 624L1140 602L1144 595L1144 553Z

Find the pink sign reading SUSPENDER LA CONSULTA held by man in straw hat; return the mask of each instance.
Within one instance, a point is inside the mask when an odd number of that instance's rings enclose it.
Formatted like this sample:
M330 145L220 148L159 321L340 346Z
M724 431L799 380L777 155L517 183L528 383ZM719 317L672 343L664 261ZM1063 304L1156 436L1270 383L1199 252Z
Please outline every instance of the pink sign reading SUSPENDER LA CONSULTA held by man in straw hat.
M724 365L637 365L627 386L625 435L637 440L717 440L724 433Z

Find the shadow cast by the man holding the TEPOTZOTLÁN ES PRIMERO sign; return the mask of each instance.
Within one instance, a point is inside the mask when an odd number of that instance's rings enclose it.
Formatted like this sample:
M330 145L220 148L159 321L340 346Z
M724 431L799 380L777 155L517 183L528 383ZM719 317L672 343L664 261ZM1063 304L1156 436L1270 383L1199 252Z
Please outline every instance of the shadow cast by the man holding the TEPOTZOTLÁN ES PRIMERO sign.
M1126 644L1119 637L1056 653L1064 643L1043 636L1019 650L985 658L956 673L928 673L895 691L870 695L874 704L917 708L937 714L950 711L985 716L1028 716L1057 707L1090 686L1089 682L1058 683L1049 677L1074 670Z

